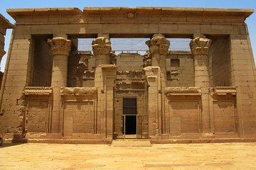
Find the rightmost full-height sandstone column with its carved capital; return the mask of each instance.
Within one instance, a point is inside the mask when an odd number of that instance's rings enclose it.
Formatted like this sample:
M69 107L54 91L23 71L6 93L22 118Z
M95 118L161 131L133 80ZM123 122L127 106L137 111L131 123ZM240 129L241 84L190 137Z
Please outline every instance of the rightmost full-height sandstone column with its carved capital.
M211 40L205 35L193 35L190 42L191 52L194 57L195 86L201 88L201 127L202 135L211 135L210 128L210 101L209 101L209 60L208 52Z

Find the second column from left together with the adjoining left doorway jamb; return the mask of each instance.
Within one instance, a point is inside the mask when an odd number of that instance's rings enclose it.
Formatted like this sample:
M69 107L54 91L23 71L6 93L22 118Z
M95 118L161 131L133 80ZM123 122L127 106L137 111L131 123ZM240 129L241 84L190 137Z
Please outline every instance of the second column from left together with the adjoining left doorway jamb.
M113 138L114 80L117 67L110 64L111 42L108 35L98 35L92 41L95 55L95 87L97 88L97 133L105 140Z

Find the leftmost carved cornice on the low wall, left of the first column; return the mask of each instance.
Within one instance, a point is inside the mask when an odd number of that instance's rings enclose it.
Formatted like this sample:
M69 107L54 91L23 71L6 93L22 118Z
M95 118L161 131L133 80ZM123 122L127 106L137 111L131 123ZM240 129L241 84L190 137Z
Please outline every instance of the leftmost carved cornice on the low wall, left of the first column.
M51 87L44 86L26 86L23 90L23 94L28 95L50 95L53 93Z

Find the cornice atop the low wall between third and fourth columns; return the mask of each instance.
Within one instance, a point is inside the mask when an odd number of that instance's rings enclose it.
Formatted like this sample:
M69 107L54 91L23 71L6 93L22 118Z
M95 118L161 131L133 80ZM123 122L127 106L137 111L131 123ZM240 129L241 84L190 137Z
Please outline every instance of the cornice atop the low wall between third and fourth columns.
M201 95L200 87L166 87L164 89L166 96L194 96Z

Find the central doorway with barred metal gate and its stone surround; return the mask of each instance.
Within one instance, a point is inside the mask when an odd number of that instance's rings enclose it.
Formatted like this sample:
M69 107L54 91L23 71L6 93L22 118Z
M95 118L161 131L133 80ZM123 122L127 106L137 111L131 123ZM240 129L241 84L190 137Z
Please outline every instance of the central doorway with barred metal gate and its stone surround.
M115 91L114 139L148 138L148 118L146 91Z

